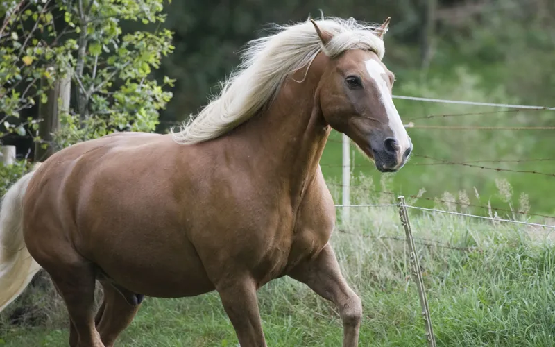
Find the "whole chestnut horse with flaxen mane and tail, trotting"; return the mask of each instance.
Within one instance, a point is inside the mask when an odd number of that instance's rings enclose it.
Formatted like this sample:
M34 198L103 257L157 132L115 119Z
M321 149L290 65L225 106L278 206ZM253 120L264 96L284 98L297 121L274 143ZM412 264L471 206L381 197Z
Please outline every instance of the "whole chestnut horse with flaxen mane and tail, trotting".
M337 305L343 346L357 346L361 301L329 243L335 208L318 161L332 128L379 171L407 160L381 61L387 24L280 27L250 42L219 98L179 132L83 142L24 176L3 199L0 308L42 267L67 305L70 346L113 346L144 295L215 289L241 346L259 347L256 291L287 275Z

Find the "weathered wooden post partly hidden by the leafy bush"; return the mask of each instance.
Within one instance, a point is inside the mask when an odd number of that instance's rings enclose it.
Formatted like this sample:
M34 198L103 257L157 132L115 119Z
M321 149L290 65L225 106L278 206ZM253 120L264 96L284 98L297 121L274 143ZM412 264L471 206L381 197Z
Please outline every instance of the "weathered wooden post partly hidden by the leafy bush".
M35 144L35 162L44 162L54 153L52 146L52 134L60 128L60 112L69 111L69 99L71 97L71 78L62 76L58 78L47 92L48 101L40 104L38 135L41 141ZM46 149L42 148L47 144Z

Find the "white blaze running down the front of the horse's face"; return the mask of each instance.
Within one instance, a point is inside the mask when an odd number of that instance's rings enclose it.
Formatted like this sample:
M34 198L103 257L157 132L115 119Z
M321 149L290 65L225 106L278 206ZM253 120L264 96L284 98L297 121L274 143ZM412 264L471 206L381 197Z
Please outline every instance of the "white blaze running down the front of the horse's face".
M384 67L379 64L379 62L373 59L366 60L364 64L366 65L366 70L368 70L370 78L372 78L377 85L379 100L382 101L386 108L387 117L389 119L389 128L391 128L391 131L393 132L393 138L397 140L397 143L400 146L399 154L402 156L404 151L411 146L411 140L409 138L409 134L407 134L407 130L405 130L403 126L399 112L397 112L397 108L395 108L395 105L393 104L391 92L389 91L387 82L384 79L388 78L386 71Z

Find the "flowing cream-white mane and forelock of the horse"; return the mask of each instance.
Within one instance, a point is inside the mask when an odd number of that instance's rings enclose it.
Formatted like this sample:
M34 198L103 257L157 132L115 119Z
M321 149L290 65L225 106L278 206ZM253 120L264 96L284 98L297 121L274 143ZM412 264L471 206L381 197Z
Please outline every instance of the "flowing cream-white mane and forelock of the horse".
M237 71L223 83L221 93L191 120L173 133L179 144L214 139L253 117L278 92L291 72L309 65L323 51L333 58L348 49L368 49L380 59L385 49L378 26L355 19L328 18L316 21L333 38L322 46L311 22L275 26L278 33L248 42Z

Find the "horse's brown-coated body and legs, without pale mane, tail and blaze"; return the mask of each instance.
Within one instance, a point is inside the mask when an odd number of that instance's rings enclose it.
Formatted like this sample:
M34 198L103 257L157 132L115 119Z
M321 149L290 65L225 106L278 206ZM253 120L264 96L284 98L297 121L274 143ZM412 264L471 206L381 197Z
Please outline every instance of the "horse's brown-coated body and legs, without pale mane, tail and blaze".
M210 141L119 133L46 160L28 178L22 230L28 253L67 304L70 345L112 346L142 295L216 289L241 346L266 346L256 290L288 275L336 303L343 346L356 346L361 303L328 243L335 210L318 162L332 127L379 155L384 170L406 160L401 139L388 148L386 115L370 115L364 126L345 117L380 109L379 98L355 100L332 88L338 70L368 74L360 69L368 60L379 57L361 49L333 59L319 53L266 108ZM366 130L381 134L385 149L366 146ZM383 160L388 155L394 159ZM96 280L105 297L94 319Z

